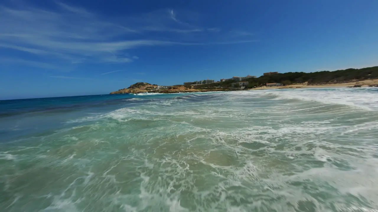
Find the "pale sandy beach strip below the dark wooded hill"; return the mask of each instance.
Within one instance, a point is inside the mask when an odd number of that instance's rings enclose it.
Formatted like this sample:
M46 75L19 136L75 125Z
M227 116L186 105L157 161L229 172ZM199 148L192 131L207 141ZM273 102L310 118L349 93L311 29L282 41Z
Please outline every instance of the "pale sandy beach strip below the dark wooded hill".
M369 85L376 85L378 84L378 80L363 80L363 81L356 81L356 82L349 82L349 83L335 83L335 84L316 84L316 85L307 85L304 84L291 84L288 86L279 86L279 87L259 87L253 88L251 90L261 90L261 89L282 89L282 88L337 88L337 87L348 87L348 86L355 86L361 85L362 87L368 87Z

